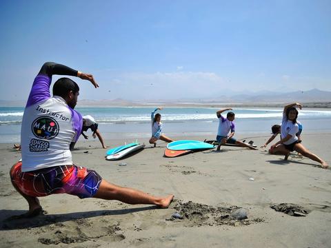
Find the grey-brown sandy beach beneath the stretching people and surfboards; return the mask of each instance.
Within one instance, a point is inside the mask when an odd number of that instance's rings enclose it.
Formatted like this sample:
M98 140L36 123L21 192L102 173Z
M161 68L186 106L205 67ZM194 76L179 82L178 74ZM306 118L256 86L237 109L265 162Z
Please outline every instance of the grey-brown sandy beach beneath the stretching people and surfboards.
M236 137L259 147L269 134ZM190 137L204 138L214 136ZM331 164L331 133L305 132L302 138L305 147ZM266 149L229 146L165 158L165 143L152 148L148 139L139 141L146 149L106 161L99 141L81 139L73 161L117 185L174 194L168 209L59 194L40 198L46 214L21 220L7 219L28 209L8 174L21 154L12 144L0 144L1 247L330 247L330 169L296 153L283 161ZM106 141L110 147L123 143ZM239 208L248 218L232 217Z

